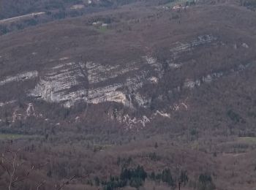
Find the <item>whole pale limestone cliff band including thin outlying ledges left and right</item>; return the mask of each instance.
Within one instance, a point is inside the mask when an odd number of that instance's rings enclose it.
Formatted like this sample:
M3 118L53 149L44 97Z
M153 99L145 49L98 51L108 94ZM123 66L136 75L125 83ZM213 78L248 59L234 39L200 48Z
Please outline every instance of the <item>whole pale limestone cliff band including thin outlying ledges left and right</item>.
M15 81L26 81L38 78L34 89L28 96L43 99L46 102L58 102L65 107L71 107L77 102L100 104L102 102L118 102L126 107L149 107L151 97L141 93L145 85L156 88L161 83L166 69L182 69L183 64L178 58L195 48L217 44L217 37L211 34L192 39L190 42L176 42L170 45L171 59L164 66L151 55L141 55L133 61L105 64L97 61L69 61L60 58L58 64L50 64L40 71L23 72L15 76L5 77L0 86ZM168 89L181 91L211 83L222 75L245 69L248 65L240 65L233 70L208 73L193 80L184 80L181 86ZM171 82L171 81L170 81ZM159 111L161 113L161 111Z

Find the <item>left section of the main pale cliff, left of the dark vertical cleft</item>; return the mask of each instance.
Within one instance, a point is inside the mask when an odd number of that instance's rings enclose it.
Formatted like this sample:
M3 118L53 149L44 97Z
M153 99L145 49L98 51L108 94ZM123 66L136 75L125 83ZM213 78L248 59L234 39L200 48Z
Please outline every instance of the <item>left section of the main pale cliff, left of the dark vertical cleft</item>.
M45 70L29 96L46 102L61 102L70 107L77 101L86 101L88 91L83 88L83 72L75 62L64 63Z

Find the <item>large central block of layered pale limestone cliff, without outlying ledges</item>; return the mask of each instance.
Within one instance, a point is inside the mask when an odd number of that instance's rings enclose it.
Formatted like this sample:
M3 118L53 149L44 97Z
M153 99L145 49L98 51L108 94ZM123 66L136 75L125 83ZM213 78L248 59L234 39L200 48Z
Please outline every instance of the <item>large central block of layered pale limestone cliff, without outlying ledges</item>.
M40 75L37 86L31 90L29 96L44 99L46 102L61 102L66 107L78 101L89 104L118 102L133 107L130 94L135 94L135 101L141 104L142 98L135 91L148 78L153 77L150 75L152 69L161 72L157 60L148 56L125 66L105 66L92 61L59 64L45 69L45 74Z

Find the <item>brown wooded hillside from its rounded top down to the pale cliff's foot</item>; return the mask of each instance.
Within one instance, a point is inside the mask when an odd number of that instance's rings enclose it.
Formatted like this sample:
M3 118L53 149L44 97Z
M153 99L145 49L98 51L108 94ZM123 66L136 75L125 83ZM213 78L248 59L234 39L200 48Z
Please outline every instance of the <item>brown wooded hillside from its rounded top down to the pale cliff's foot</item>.
M2 102L21 94L66 107L117 102L132 112L168 116L189 89L255 63L255 20L246 20L254 12L222 4L148 10L137 20L131 12L106 13L113 20L108 26L85 17L1 37ZM23 93L10 88L17 82ZM152 115L144 116L143 126Z

